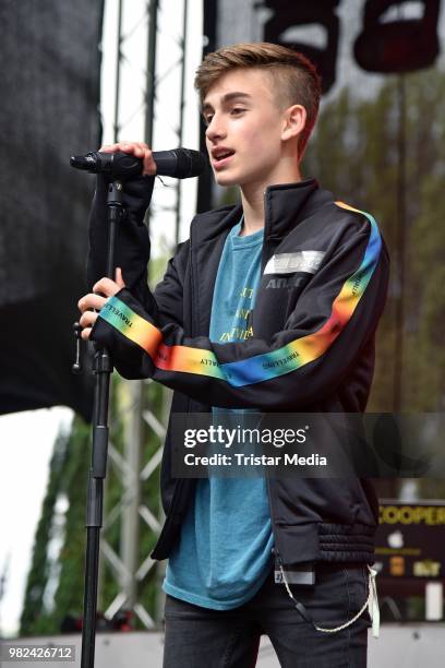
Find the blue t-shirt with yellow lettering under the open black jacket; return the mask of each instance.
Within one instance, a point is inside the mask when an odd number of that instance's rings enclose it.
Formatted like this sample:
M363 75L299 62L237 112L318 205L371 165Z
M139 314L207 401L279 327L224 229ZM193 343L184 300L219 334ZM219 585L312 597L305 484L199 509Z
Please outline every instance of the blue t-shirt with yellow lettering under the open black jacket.
M230 230L219 262L209 331L215 343L252 336L263 230L240 237L241 224ZM224 410L214 408L214 417ZM264 477L199 479L163 588L204 608L241 606L264 583L273 542Z

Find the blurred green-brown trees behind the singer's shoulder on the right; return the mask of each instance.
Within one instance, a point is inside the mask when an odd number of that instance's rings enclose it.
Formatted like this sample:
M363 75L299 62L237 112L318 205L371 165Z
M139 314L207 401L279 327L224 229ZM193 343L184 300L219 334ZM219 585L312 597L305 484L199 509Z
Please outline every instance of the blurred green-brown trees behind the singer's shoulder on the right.
M327 105L310 142L304 171L340 199L371 212L389 250L390 285L378 327L368 409L421 413L443 410L445 403L441 342L445 315L445 74L419 72L406 76L402 85L406 112L400 107L399 82L393 79L375 99L356 99L345 90ZM405 124L401 138L400 123ZM404 257L398 225L406 239ZM404 306L401 332L397 326L399 300ZM394 360L400 347L401 402L395 406Z

